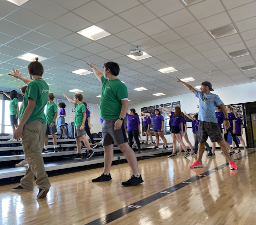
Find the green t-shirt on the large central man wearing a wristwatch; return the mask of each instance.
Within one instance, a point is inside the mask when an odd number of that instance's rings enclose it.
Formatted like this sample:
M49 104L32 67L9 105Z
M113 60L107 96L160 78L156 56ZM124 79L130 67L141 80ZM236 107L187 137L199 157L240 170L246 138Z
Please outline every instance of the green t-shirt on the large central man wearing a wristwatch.
M121 100L128 100L127 87L119 80L108 80L101 77L101 95L99 104L99 114L103 120L118 119L120 116Z

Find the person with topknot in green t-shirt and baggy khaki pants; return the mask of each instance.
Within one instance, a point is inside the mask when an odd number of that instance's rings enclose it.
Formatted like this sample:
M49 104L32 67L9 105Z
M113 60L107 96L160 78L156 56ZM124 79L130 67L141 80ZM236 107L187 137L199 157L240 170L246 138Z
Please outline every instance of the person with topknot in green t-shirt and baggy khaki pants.
M28 74L32 81L21 77L17 69L12 68L14 74L9 74L27 84L20 113L21 120L13 138L19 140L22 137L22 147L29 165L20 184L16 188L12 188L11 191L32 191L34 177L36 177L35 184L39 188L36 198L43 198L46 197L50 189L41 154L46 130L44 106L48 99L49 86L42 79L42 64L37 61L38 58L35 60L28 65Z

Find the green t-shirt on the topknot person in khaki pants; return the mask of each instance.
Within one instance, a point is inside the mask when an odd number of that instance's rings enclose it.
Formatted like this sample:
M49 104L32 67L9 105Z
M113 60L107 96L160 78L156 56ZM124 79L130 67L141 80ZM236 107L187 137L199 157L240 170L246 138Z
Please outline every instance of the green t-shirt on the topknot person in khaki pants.
M28 105L28 98L32 98L35 102L35 107L26 123L29 123L34 120L39 120L42 123L46 123L46 118L44 115L44 106L48 101L48 93L49 86L44 80L37 79L31 81L26 88L20 118L22 118L23 113Z

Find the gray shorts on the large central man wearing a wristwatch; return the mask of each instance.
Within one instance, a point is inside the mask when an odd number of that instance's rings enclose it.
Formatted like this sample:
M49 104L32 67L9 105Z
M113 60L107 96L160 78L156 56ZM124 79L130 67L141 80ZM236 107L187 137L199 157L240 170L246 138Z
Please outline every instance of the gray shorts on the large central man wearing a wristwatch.
M119 130L114 130L114 120L104 120L102 123L102 145L120 145L127 141L125 127L127 125L126 117L123 119L122 126Z

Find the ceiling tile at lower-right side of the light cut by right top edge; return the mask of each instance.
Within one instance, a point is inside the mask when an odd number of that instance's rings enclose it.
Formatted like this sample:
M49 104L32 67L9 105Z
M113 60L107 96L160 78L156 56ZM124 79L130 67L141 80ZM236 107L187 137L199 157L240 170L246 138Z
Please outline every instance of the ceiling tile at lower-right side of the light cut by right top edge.
M205 0L189 6L188 9L197 19L202 19L225 11L219 0Z

